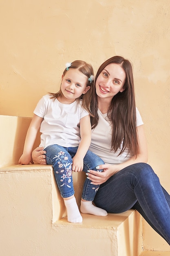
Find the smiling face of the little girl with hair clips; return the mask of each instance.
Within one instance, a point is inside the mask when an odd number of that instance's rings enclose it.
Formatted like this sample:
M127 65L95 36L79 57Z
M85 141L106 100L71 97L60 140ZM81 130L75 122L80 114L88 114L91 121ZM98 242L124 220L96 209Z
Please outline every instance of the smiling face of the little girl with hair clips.
M75 99L85 94L90 86L86 86L88 78L78 69L69 69L66 74L62 75L61 91L64 102L72 103Z

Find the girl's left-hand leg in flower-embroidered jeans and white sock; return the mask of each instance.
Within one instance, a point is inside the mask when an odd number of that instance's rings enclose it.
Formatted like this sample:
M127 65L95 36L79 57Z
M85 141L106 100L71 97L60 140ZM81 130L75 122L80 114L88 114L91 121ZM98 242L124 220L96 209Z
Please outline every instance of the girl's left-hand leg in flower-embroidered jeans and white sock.
M71 155L66 148L59 145L48 146L45 150L47 164L53 165L55 180L64 199L68 221L82 222L82 216L74 197Z

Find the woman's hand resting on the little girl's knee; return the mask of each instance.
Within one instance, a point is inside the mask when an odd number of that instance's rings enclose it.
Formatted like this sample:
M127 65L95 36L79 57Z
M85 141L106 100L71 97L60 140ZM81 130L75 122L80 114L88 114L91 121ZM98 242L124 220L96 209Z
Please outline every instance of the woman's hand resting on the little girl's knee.
M88 179L91 180L91 184L93 185L101 185L106 180L108 180L112 175L117 173L117 170L114 165L112 164L101 164L97 166L97 169L103 169L103 172L97 172L94 170L89 170L86 175L88 175Z

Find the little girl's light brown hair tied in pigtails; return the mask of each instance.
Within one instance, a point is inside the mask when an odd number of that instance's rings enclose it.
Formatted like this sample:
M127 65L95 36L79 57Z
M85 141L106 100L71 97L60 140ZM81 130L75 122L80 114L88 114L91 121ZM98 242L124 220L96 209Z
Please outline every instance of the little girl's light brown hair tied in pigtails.
M91 75L94 75L94 71L93 71L93 67L91 64L86 63L85 61L73 61L71 63L71 66L69 67L69 69L77 69L79 70L79 72L82 72L82 74L84 74L85 76L87 76L87 84L86 86L90 86L91 88L85 93L82 94L79 99L77 99L77 101L80 101L80 99L82 99L82 107L87 110L89 112L89 114L91 115L90 112L90 102L89 102L89 98L91 98L91 94L92 94L92 90L93 90L93 83L94 81L89 81L88 79L90 78ZM63 76L66 74L67 69L64 70L63 72ZM62 91L61 91L61 87L59 92L57 93L50 93L52 95L51 99L56 99L58 97L62 97Z

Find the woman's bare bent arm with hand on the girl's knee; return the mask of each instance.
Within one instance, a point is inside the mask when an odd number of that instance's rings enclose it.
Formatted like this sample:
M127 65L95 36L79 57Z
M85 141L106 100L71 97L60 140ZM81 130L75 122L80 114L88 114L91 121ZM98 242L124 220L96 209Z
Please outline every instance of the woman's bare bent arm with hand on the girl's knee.
M118 171L122 170L123 168L135 164L135 163L146 163L148 161L148 149L147 149L147 142L146 136L144 133L144 126L137 127L138 137L139 137L139 155L135 158L132 156L126 162L121 164L102 164L99 166L99 169L103 169L103 172L96 172L90 170L88 173L88 177L92 181L94 185L102 184L106 182L112 175L117 173Z

